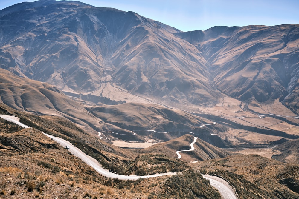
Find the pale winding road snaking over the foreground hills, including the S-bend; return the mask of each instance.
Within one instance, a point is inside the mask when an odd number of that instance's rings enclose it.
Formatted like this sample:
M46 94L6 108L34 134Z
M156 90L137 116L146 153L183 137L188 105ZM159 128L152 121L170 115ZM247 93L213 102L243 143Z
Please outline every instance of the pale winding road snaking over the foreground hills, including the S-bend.
M19 118L15 117L15 116L11 116L11 115L0 115L1 118L10 121L10 122L14 122L24 128L30 128L29 126L22 124L19 122ZM59 143L61 146L65 147L65 146L69 146L69 152L72 153L73 155L75 155L76 157L80 158L82 161L84 161L86 164L88 164L89 166L91 166L92 168L94 168L94 170L96 170L98 173L100 173L101 175L104 175L108 178L118 178L120 180L137 180L139 178L152 178L152 177L158 177L158 176L163 176L163 175L176 175L176 172L167 172L167 173L157 173L154 175L145 175L145 176L137 176L137 175L118 175L112 172L109 172L108 170L104 169L99 162L90 157L89 155L86 155L85 153L83 153L79 148L77 148L76 146L74 146L73 144L71 144L70 142L62 139L62 138L58 138L55 137L53 135L49 135L43 132L44 135L48 136L49 138L53 139L54 141L56 141L57 143ZM99 136L100 136L100 132L99 132ZM196 142L197 137L194 137L194 141L190 144L191 149L189 150L182 150L182 151L192 151L194 150L193 144ZM66 150L66 149L65 149ZM181 155L179 154L179 152L182 151L177 151L176 153L178 154L179 158L181 157ZM222 198L224 199L237 199L237 197L234 195L234 190L232 189L231 186L229 186L229 184L224 181L222 178L218 178L216 176L210 176L210 175L203 175L204 178L210 180L210 185L215 187L216 189L218 189L218 191L220 192L220 195L222 196Z

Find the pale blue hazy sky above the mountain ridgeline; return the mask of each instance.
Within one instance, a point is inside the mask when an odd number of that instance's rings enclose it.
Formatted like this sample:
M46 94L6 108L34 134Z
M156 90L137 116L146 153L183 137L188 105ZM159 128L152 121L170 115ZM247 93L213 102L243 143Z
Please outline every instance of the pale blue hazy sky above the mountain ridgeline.
M27 0L34 1L34 0ZM299 24L299 0L80 0L133 11L182 31L213 26ZM23 2L0 0L0 9Z

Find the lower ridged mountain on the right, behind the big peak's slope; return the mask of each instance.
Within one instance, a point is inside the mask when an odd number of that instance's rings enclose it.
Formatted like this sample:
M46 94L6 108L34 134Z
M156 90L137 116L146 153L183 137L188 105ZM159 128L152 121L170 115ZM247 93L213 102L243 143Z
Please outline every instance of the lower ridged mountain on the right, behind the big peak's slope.
M298 108L299 25L212 27L176 33L196 46L222 92L243 101L280 99Z

